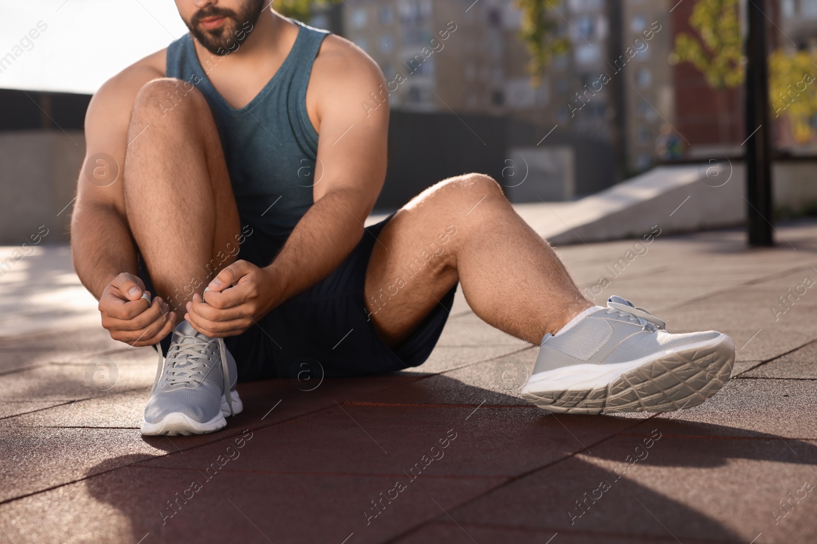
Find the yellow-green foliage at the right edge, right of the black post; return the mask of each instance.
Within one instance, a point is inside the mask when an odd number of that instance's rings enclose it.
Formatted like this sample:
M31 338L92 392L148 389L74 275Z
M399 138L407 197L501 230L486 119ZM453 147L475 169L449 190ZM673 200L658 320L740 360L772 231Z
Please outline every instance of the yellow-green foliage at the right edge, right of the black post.
M802 144L814 136L811 118L817 115L817 52L775 51L769 55L769 101L776 117L786 116L792 135Z

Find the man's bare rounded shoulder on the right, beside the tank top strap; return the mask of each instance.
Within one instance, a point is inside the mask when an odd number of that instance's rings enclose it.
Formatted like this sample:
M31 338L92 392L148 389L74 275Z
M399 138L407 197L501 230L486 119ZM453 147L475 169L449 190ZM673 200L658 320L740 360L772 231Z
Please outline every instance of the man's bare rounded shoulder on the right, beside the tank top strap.
M377 92L384 84L383 73L377 63L346 38L330 34L320 47L312 67L312 84L328 95L363 92L365 100L370 92Z

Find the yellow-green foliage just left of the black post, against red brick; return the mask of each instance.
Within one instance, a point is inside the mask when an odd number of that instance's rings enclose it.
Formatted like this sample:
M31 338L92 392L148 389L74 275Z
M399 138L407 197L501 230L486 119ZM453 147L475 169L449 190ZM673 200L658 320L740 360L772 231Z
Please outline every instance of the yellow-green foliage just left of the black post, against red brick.
M743 82L738 4L739 0L698 0L690 24L701 41L687 33L676 36L676 60L692 63L713 89L736 87Z

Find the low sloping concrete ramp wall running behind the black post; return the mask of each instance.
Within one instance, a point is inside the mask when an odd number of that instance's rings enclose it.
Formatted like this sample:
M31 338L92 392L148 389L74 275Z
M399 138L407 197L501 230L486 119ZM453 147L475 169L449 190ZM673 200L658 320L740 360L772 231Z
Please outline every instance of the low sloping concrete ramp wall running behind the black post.
M579 201L516 206L542 237L556 245L617 240L650 232L691 232L746 221L745 167L741 162L659 166ZM775 208L793 214L817 202L817 159L778 161L773 168Z

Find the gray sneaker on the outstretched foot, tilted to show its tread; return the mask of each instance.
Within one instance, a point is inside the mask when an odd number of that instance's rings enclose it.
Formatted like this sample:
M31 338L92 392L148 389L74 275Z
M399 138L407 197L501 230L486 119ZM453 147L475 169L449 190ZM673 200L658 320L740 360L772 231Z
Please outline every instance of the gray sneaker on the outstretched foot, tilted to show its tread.
M671 334L629 300L542 340L522 398L567 414L670 412L701 404L730 378L734 342L714 330Z

